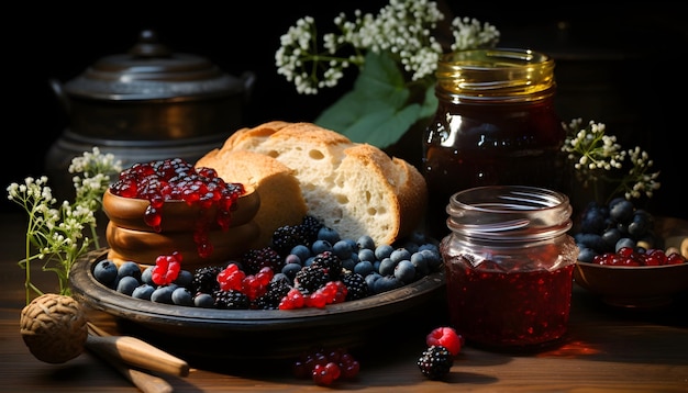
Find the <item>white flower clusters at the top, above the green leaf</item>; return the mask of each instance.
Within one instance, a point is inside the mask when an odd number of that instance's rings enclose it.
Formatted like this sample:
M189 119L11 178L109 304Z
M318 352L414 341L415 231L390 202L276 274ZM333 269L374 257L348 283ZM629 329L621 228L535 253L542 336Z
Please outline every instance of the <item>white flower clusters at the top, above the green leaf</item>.
M354 12L347 21L344 13L334 19L341 34L328 33L318 40L315 21L304 16L280 37L275 54L277 74L293 82L297 92L317 94L331 88L344 76L351 65L363 67L365 53L386 53L418 81L432 76L442 45L432 35L444 14L434 1L390 0L377 15ZM455 18L452 21L455 42L452 50L492 47L499 41L499 31L476 19Z

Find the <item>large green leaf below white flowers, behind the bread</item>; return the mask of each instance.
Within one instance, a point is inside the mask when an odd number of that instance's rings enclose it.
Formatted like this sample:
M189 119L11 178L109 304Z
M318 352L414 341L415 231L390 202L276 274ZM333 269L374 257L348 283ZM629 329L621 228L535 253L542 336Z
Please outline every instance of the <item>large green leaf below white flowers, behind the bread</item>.
M424 102L409 102L411 91L387 55L369 53L352 91L325 109L314 123L349 139L380 148L395 144L418 120L434 113L434 86Z

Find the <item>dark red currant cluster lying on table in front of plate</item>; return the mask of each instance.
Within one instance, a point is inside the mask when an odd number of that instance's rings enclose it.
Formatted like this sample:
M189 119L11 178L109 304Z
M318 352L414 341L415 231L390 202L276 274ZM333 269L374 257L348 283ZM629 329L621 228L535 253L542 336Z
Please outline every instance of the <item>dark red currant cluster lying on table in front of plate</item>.
M312 378L319 385L330 385L339 379L353 379L358 375L360 364L345 349L325 350L312 349L303 355L292 366L297 378Z

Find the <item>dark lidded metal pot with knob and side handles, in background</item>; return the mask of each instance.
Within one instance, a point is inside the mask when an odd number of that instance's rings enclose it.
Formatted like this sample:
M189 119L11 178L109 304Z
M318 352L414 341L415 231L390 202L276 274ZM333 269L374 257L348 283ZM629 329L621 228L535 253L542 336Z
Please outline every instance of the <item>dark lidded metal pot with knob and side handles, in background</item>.
M156 141L226 133L241 126L255 77L222 72L203 57L170 52L152 31L126 54L96 61L52 87L70 131L104 139Z

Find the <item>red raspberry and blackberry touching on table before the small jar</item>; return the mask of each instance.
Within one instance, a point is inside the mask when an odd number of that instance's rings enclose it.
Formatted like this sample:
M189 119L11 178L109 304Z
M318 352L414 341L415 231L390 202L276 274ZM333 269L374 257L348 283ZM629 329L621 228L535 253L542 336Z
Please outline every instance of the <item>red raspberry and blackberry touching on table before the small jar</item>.
M425 337L425 344L428 348L418 359L417 366L426 378L441 380L454 366L454 357L460 352L464 338L453 328L442 326Z

